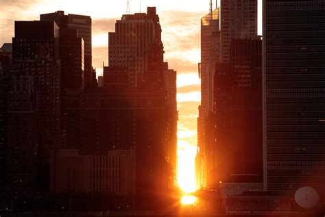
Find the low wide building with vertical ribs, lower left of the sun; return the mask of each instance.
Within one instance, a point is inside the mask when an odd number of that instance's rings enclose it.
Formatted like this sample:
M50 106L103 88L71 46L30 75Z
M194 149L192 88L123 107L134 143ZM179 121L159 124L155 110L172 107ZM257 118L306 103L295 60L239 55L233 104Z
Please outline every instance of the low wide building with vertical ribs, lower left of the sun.
M135 192L135 150L111 150L106 155L79 155L77 149L51 151L51 192Z

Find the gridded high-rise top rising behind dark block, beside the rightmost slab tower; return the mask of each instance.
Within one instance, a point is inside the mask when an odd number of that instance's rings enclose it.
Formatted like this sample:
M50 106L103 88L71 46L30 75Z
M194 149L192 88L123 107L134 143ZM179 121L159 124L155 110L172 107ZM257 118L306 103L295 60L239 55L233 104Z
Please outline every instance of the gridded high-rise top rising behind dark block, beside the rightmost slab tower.
M257 0L221 0L221 62L230 62L232 38L257 36Z

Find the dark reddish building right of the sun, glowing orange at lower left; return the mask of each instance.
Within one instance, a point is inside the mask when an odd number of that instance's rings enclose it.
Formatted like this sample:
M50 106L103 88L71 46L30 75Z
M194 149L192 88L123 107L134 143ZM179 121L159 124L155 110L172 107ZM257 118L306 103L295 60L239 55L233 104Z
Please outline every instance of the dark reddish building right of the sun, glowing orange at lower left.
M263 181L262 41L233 39L230 64L215 72L215 130L208 184ZM212 114L211 114L212 115ZM213 134L213 132L210 132Z

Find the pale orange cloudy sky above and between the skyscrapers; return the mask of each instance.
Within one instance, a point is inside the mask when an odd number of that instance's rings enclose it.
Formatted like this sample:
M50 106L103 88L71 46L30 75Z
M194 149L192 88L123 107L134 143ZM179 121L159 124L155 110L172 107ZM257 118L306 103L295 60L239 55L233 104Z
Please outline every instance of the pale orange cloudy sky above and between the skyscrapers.
M213 3L215 8L215 1ZM261 0L258 3L261 8ZM91 16L93 66L99 73L102 62L108 62L108 32L115 31L115 21L126 12L126 0L0 0L0 5L0 46L11 43L15 20L39 20L39 14L57 10ZM193 153L195 148L189 147L197 143L197 106L200 104L200 80L197 76L200 18L208 12L209 1L130 0L130 13L146 12L147 6L157 8L163 28L165 60L170 68L178 71L179 151Z

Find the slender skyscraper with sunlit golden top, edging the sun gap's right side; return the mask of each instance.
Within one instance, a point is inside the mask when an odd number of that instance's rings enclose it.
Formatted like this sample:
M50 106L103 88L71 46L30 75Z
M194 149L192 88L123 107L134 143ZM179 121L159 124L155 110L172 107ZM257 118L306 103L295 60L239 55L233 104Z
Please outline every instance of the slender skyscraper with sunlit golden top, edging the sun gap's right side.
M206 144L204 141L204 126L208 111L213 110L213 75L215 71L215 63L220 59L220 27L219 27L219 8L212 10L201 19L201 63L199 64L199 76L201 78L201 106L199 108L199 120L197 137L198 146L200 146L199 156L202 156L203 168L206 163ZM199 165L197 165L199 166ZM202 172L206 178L206 170ZM205 183L200 183L204 186Z

